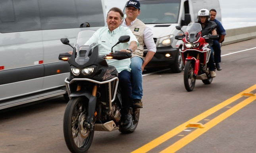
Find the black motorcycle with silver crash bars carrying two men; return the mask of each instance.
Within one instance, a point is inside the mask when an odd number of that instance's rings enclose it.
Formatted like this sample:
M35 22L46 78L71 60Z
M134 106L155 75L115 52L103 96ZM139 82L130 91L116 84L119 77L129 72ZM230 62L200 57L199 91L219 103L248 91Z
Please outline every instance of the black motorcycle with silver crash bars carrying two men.
M105 60L123 60L131 58L131 54L112 51L111 54L99 56L98 42L102 41L99 40L99 35L98 40L91 41L92 35L98 34L94 31L79 32L75 47L69 44L67 38L61 39L63 44L73 48L72 54L59 55L59 60L67 61L71 70L69 78L65 78L70 100L64 113L63 129L66 145L73 153L86 152L89 149L94 131L119 130L122 133L131 133L139 122L140 109L134 108L131 110L132 127L123 127L118 72ZM115 45L128 42L129 39L128 35L121 36Z

